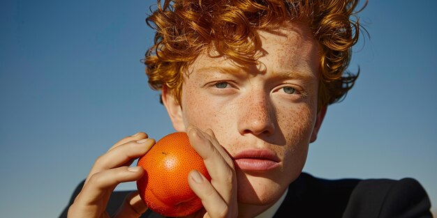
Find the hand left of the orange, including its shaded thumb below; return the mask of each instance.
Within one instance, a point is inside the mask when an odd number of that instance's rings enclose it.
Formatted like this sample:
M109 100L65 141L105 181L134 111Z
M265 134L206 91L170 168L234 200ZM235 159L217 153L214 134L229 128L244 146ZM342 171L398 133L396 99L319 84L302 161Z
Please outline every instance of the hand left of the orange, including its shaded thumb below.
M140 166L129 167L135 158L145 155L155 144L147 139L147 134L139 132L121 139L98 157L91 168L82 191L68 209L68 217L103 218L110 217L106 205L112 191L121 182L135 181L141 178L144 170ZM140 217L147 207L138 193L129 194L114 217Z

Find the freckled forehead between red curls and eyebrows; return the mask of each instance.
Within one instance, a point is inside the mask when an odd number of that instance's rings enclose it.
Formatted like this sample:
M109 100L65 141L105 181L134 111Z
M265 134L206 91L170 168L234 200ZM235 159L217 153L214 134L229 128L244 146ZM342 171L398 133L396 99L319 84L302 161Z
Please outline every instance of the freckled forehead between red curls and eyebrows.
M307 23L288 22L257 33L260 47L255 54L259 63L255 68L258 70L318 72L320 48ZM236 63L210 47L209 52L203 52L188 65L188 72L221 70L232 73L248 68L251 66Z

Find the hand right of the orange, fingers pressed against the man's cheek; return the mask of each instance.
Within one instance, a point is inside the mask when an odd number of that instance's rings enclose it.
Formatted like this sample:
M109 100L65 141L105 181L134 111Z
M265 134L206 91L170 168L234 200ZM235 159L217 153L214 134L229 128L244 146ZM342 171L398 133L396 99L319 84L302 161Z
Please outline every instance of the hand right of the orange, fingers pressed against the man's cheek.
M188 138L203 158L212 178L209 182L198 171L191 171L188 175L188 184L206 210L195 212L191 217L237 217L237 177L232 158L218 143L212 130L202 132L189 127Z

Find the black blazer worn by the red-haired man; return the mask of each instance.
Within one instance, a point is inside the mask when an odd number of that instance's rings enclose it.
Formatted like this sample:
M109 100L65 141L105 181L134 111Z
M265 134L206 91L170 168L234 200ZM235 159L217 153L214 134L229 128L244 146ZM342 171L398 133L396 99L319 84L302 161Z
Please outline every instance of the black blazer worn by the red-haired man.
M75 189L69 205L82 189ZM113 214L129 192L114 192L107 211ZM279 217L393 218L432 217L431 203L422 185L402 180L325 180L302 173L288 187L288 194L274 215ZM60 217L67 217L68 206ZM141 217L161 215L147 210Z

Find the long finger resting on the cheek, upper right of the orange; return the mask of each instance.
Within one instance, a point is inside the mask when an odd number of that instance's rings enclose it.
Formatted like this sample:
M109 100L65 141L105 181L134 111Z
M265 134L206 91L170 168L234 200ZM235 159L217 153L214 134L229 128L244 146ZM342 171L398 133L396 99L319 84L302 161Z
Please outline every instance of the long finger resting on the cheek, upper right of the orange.
M233 165L230 166L225 161L218 149L213 146L212 141L209 141L201 132L193 128L188 132L191 145L198 152L205 162L211 183L217 192L223 197L226 202L235 194L237 182L235 180L235 170ZM226 157L229 157L226 155Z

